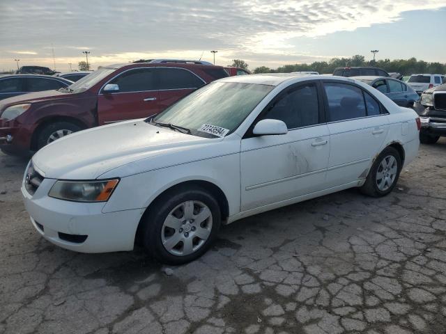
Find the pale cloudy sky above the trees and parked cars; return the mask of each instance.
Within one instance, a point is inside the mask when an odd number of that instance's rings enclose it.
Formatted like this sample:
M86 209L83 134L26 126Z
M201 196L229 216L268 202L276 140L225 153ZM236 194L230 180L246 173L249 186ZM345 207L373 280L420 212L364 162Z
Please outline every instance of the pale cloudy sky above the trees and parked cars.
M139 58L241 58L253 69L379 49L446 62L446 0L0 0L0 70Z

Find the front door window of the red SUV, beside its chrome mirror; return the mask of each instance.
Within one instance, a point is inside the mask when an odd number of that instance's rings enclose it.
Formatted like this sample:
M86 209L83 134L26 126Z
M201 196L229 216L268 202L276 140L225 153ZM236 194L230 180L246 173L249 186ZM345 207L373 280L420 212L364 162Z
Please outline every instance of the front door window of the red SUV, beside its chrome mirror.
M155 71L151 67L135 68L123 72L109 81L109 84L118 85L119 93L144 92L158 88Z

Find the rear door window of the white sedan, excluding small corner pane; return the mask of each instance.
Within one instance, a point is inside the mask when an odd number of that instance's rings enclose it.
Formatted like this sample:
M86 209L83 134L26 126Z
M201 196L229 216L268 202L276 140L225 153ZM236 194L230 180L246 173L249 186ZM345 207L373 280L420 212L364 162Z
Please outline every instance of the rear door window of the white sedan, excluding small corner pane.
M367 115L364 97L360 88L337 82L325 82L323 87L327 95L331 122L351 120Z

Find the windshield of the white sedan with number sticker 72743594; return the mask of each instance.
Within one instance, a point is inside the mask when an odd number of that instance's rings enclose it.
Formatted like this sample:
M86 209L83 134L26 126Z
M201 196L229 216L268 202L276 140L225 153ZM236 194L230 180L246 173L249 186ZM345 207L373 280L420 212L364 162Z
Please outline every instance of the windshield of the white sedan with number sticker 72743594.
M222 128L224 134L230 133L273 88L259 84L214 82L187 95L152 121L185 127L198 136L210 133L205 125Z

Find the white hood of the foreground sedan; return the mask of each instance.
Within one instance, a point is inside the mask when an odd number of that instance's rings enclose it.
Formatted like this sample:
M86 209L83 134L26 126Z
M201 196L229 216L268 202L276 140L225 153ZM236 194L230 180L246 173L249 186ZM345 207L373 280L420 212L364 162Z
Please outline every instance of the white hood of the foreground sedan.
M144 120L130 120L70 134L45 146L32 159L43 176L52 179L93 180L110 170L113 177L125 177L191 161L188 151L216 141L222 139L192 136ZM194 159L206 159L206 154L210 154L210 150L199 151L200 157ZM161 156L162 159L153 161L153 157ZM147 159L151 161L147 163Z

